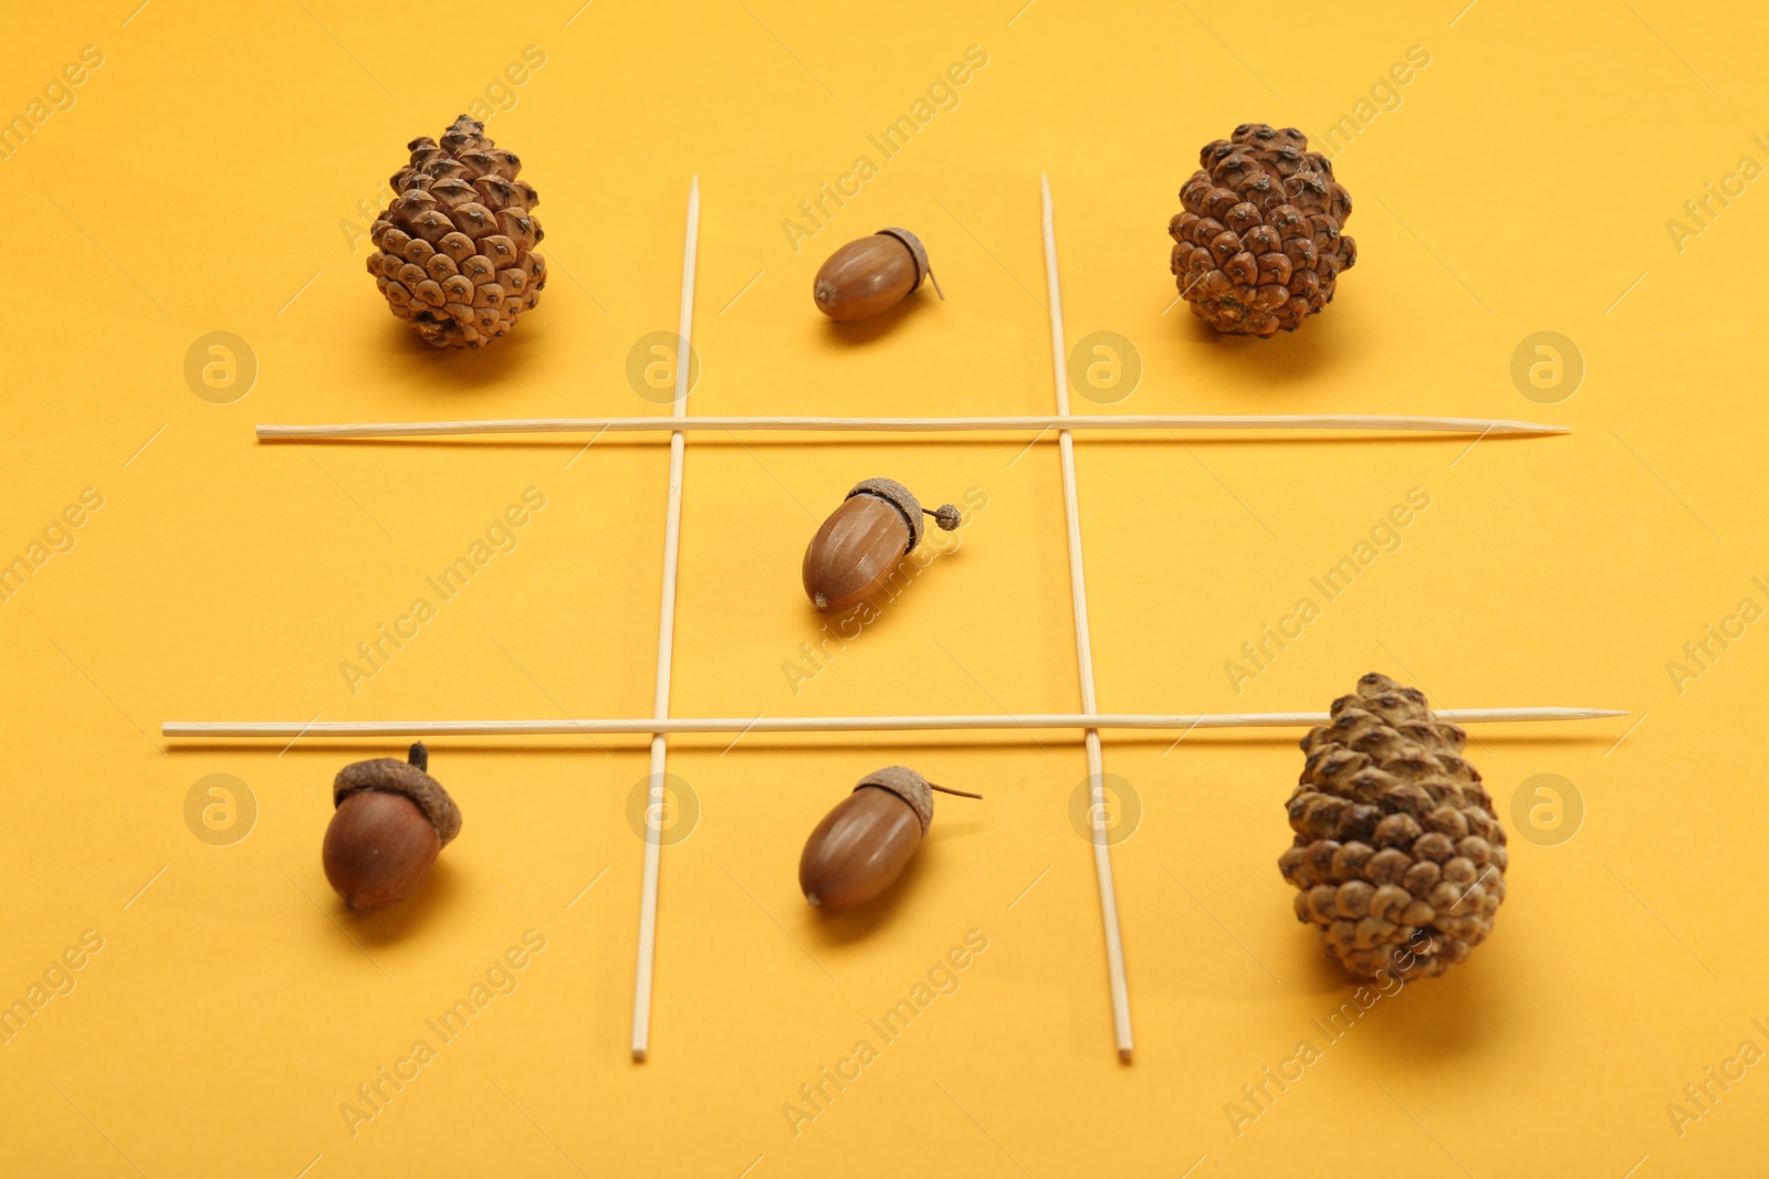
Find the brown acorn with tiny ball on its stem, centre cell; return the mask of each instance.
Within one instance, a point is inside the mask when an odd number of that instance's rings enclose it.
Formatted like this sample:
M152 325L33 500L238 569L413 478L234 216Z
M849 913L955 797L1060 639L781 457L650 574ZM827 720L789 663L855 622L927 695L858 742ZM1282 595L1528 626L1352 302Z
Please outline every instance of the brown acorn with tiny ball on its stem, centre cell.
M877 596L902 559L922 543L922 516L943 532L962 520L957 506L922 507L895 479L862 479L805 548L801 576L817 610L840 613Z

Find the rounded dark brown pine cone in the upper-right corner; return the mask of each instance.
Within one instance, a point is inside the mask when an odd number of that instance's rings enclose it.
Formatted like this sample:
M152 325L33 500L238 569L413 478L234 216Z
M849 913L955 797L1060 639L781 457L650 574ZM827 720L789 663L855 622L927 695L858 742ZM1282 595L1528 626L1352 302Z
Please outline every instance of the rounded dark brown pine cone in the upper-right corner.
M1295 127L1245 122L1205 145L1180 189L1173 272L1192 315L1219 332L1293 332L1357 263L1357 242L1339 233L1352 196L1307 147Z

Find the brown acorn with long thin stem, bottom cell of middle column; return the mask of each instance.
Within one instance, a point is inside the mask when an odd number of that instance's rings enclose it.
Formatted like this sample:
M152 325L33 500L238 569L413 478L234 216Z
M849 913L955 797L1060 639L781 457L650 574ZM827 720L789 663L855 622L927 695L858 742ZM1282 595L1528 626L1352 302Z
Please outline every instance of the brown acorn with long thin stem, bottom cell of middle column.
M934 790L984 797L936 787L902 765L862 778L805 840L805 854L798 857L798 887L805 900L824 912L840 912L895 884L934 822Z

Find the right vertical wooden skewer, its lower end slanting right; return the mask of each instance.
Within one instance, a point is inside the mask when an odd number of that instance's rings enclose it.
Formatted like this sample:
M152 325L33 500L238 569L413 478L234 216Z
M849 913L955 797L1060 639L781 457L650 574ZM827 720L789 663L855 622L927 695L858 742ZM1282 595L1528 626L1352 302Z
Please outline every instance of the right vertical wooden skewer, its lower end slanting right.
M1056 224L1051 216L1051 177L1040 179L1044 196L1044 278L1051 299L1051 368L1056 373L1056 412L1068 415L1068 345L1063 338L1063 288L1056 272ZM1068 590L1076 606L1076 661L1081 665L1081 711L1099 714L1093 693L1093 636L1088 631L1088 576L1081 559L1081 502L1076 493L1076 440L1067 430L1056 433L1063 463L1063 511L1068 516ZM1111 877L1111 845L1106 838L1106 755L1097 728L1086 730L1088 748L1088 822L1093 827L1093 875L1100 886L1100 917L1106 923L1106 970L1111 977L1113 1025L1118 1059L1130 1061L1130 988L1123 979L1123 939L1118 933L1118 891Z

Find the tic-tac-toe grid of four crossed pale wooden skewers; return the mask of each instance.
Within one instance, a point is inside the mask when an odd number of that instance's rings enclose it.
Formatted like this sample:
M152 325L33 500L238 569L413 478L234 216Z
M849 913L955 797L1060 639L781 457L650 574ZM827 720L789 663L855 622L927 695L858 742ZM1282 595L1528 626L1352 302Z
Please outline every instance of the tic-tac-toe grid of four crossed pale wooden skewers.
M685 357L692 355L693 339L693 290L701 237L701 184L693 180L688 191L686 239L683 247L681 278L681 316L678 331L676 396L667 419L541 419L529 422L432 422L425 424L380 424L380 426L260 426L260 438L364 438L364 437L410 437L410 435L465 435L485 433L488 428L501 431L563 431L598 428L596 437L609 430L644 428L669 430L670 465L669 465L669 500L663 525L663 590L658 608L658 643L656 643L656 681L653 695L653 714L647 719L632 721L308 721L299 723L195 723L168 721L161 726L166 737L295 737L301 735L541 735L541 734L587 734L587 732L624 732L649 734L649 804L646 808L646 852L644 877L640 886L639 909L639 955L633 976L633 1036L632 1053L635 1061L644 1061L651 1045L651 995L653 967L656 960L656 921L658 921L658 875L662 870L663 827L660 815L665 806L665 769L669 760L670 732L879 732L879 730L1005 730L1005 728L1081 728L1086 744L1093 870L1099 880L1100 921L1106 933L1106 967L1111 983L1113 1027L1122 1061L1130 1061L1134 1048L1130 1031L1130 993L1123 967L1123 940L1118 928L1118 900L1113 886L1111 847L1104 813L1106 799L1106 764L1100 746L1100 728L1176 728L1182 737L1192 728L1205 726L1265 726L1265 725L1316 725L1327 719L1323 712L1268 712L1268 714L1217 714L1217 716L1136 716L1136 714L1100 714L1093 686L1093 643L1088 629L1088 587L1086 562L1081 541L1081 507L1076 488L1076 453L1074 435L1077 428L1116 428L1148 430L1171 428L1176 424L1208 428L1254 428L1281 426L1297 430L1413 430L1413 431L1454 431L1475 433L1484 438L1489 433L1564 433L1564 428L1541 426L1535 422L1509 422L1484 419L1421 419L1421 417L1237 417L1237 419L1182 419L1160 415L1106 415L1074 417L1068 403L1068 355L1063 332L1063 299L1056 260L1056 230L1049 180L1042 182L1044 214L1044 270L1049 295L1051 316L1051 369L1056 387L1056 415L1021 417L1021 419L701 419L704 426L750 428L750 430L794 430L808 431L810 437L833 431L934 431L934 430L1035 430L1033 442L1047 431L1056 430L1056 442L1063 479L1063 513L1067 518L1068 539L1068 585L1074 608L1076 663L1081 679L1081 712L1047 714L1005 714L1005 716L893 716L893 718L805 718L766 721L729 719L688 719L670 718L670 670L674 665L676 631L676 585L681 553L681 491L683 465L686 453L686 431L693 419L688 417L688 384L692 364ZM1176 440L1169 433L1168 438ZM1479 440L1479 438L1477 438ZM594 438L591 438L594 442ZM1030 444L1028 444L1030 445ZM1619 712L1596 709L1438 709L1438 716L1456 721L1532 721L1532 719L1592 719L1599 716L1620 716Z

